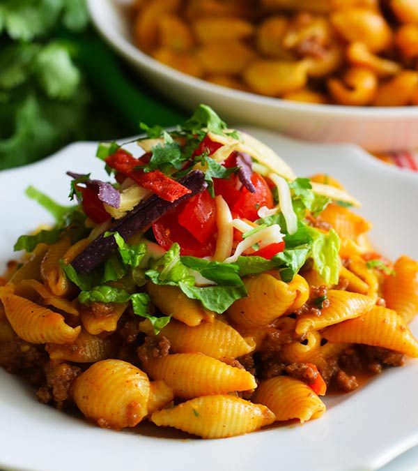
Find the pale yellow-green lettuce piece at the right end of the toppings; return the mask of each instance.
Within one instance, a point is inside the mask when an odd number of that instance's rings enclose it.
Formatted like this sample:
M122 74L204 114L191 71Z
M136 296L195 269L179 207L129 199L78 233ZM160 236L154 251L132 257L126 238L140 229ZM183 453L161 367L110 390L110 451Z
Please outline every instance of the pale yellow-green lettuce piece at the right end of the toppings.
M307 228L312 237L311 252L315 269L325 283L338 283L341 266L339 257L341 241L338 234L334 229L331 229L328 234L324 234L314 227Z

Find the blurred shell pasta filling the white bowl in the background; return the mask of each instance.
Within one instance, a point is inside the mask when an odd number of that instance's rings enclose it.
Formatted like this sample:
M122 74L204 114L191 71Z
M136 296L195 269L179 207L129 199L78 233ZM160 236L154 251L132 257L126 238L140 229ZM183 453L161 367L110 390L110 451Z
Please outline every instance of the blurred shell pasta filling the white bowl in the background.
M127 11L134 45L166 66L348 106L417 105L417 12L416 0L149 0Z

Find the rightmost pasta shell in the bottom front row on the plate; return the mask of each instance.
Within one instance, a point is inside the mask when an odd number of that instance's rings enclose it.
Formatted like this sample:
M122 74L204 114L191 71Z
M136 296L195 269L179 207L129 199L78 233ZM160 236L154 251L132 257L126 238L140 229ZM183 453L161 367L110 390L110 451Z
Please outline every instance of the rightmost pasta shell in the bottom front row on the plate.
M323 401L307 384L288 376L262 382L253 401L266 405L279 421L318 419L326 410Z

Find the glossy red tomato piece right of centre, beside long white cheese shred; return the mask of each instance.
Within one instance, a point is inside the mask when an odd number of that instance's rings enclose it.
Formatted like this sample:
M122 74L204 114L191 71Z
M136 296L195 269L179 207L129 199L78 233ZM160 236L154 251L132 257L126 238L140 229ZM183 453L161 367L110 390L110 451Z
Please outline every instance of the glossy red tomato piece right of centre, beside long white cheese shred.
M255 193L251 193L243 186L240 190L240 198L233 204L232 210L241 218L256 220L258 209L262 206L272 208L274 202L272 192L260 174L253 173L251 181L256 187Z

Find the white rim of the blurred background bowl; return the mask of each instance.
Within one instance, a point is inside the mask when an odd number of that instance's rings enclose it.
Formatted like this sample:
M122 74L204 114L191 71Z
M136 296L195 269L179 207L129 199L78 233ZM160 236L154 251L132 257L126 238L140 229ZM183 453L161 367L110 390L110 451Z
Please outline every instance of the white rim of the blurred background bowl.
M236 99L245 101L253 105L261 105L276 110L293 110L295 112L309 112L311 114L329 114L342 117L369 117L378 120L418 117L418 105L398 106L398 107L366 107L366 106L347 106L330 105L322 103L302 103L291 100L283 100L270 96L254 94L249 91L242 91L224 87L223 85L208 82L207 80L193 77L181 72L175 68L169 67L164 63L153 59L131 41L127 40L116 29L109 27L102 14L103 8L114 8L121 10L124 4L120 1L119 5L115 0L87 0L88 10L95 28L100 35L107 40L125 59L137 63L148 69L150 72L168 77L183 85L188 85L194 89L204 89L212 94L217 94L227 99ZM125 21L125 20L124 20Z

